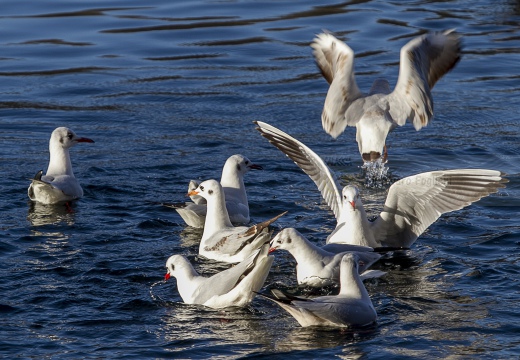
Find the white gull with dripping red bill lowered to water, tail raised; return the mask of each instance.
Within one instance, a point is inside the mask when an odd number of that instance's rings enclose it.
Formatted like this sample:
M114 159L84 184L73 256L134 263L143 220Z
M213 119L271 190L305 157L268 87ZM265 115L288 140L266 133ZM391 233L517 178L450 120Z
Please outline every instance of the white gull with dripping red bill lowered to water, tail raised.
M268 256L269 245L255 250L241 263L211 277L195 271L182 255L173 255L166 262L168 280L177 279L177 289L186 304L204 305L213 309L247 306L263 286L274 257Z

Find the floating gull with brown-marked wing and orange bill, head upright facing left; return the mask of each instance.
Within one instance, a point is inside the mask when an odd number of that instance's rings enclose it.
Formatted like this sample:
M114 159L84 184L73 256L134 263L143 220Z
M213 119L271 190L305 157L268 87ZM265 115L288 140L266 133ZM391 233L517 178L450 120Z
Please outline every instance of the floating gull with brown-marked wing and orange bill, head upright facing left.
M243 261L259 247L269 243L272 231L269 225L287 213L251 227L235 227L229 220L222 185L216 180L203 181L189 196L200 195L207 201L204 232L199 245L199 254L216 261L237 263Z

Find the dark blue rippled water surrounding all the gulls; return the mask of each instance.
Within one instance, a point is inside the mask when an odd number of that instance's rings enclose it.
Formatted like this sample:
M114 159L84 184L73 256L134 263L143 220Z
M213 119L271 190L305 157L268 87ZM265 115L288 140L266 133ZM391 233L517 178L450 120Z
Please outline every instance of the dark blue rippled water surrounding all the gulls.
M511 358L520 353L520 3L467 1L2 1L0 15L0 354L6 358ZM443 216L367 283L367 333L302 329L275 305L211 311L161 283L166 259L197 258L201 232L152 201L183 199L242 153L254 222L282 211L322 243L335 220L312 181L255 130L273 124L363 186L354 129L321 129L327 83L312 38L328 29L357 54L357 81L394 82L399 50L456 28L462 61L433 91L435 120L388 139L390 173L448 168L508 174L498 194ZM85 197L31 204L28 179L68 126ZM384 189L364 189L377 214ZM277 254L267 287L296 284Z

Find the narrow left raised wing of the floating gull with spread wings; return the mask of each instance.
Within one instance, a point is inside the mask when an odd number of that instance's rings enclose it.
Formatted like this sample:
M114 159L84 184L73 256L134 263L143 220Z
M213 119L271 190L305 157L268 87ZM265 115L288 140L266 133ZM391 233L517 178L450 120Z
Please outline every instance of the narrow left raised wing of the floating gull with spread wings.
M337 179L327 164L314 151L292 136L261 121L255 121L255 124L258 125L256 129L263 137L309 175L338 220L341 211L341 192Z

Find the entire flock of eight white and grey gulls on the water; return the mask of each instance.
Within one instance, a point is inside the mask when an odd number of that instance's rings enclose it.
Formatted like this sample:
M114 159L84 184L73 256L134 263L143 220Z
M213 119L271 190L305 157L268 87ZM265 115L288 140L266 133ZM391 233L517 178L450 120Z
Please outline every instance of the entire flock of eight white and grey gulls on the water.
M354 78L354 53L329 33L311 44L316 63L329 82L322 113L324 130L331 136L346 126L356 126L362 159L386 161L386 136L408 120L417 130L433 117L431 89L460 59L460 36L454 31L434 32L411 40L401 49L397 85L390 91L386 80L374 82L362 93ZM496 170L439 170L403 178L388 189L379 216L369 220L361 191L353 185L340 187L334 172L308 146L264 122L256 129L271 144L294 161L314 181L332 210L337 225L326 245L317 246L297 229L282 229L276 236L270 225L283 216L250 224L244 175L260 170L242 155L224 164L220 182L190 181L185 203L165 204L175 208L188 226L203 228L199 255L233 264L211 277L199 275L189 260L173 255L166 262L165 280L175 277L177 289L187 304L214 309L244 307L256 295L263 296L292 315L301 326L358 327L376 323L377 314L363 280L384 276L370 270L389 250L409 249L442 214L465 206L503 188L506 179ZM59 127L50 138L49 167L36 174L29 198L44 204L69 202L82 197L74 177L69 149L92 143L72 130ZM288 251L296 260L299 285L339 285L337 295L300 297L271 289L261 292L274 260L273 252Z

